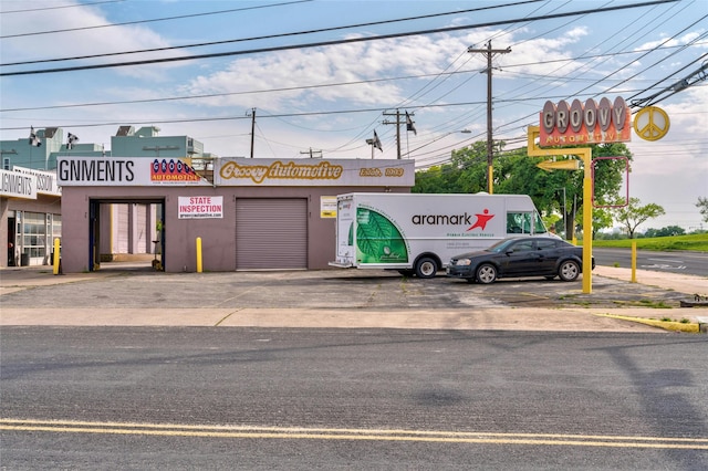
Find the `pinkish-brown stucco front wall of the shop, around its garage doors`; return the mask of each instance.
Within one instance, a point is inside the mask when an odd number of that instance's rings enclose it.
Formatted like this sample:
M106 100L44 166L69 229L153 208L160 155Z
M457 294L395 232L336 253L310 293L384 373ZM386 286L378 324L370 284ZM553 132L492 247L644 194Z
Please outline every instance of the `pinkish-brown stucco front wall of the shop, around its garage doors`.
M71 187L62 196L62 270L91 270L90 201L165 201L165 271L196 271L196 239L201 238L202 264L209 271L235 271L236 200L238 198L308 199L308 268L327 269L334 260L335 220L320 217L320 197L353 191L391 191L384 187ZM409 192L409 188L394 188ZM222 219L178 219L178 197L222 196Z

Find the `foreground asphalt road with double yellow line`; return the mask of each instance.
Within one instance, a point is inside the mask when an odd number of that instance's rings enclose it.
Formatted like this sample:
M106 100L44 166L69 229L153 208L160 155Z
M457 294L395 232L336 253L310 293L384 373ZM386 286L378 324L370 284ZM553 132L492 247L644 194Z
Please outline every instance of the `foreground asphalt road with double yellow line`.
M708 468L704 336L3 327L1 467Z

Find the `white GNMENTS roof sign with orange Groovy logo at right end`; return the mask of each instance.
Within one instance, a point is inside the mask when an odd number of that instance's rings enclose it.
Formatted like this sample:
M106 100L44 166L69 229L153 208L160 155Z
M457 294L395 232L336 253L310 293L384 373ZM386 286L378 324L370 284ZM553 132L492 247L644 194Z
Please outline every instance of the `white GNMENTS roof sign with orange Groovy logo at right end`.
M149 157L59 157L56 177L61 186L206 186L180 159Z

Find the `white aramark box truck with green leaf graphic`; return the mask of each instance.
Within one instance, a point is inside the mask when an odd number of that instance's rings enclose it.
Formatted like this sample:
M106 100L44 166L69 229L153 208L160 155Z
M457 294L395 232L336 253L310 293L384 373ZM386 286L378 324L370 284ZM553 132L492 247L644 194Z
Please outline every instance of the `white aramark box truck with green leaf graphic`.
M454 255L519 234L548 236L527 195L346 193L337 196L329 264L427 279Z

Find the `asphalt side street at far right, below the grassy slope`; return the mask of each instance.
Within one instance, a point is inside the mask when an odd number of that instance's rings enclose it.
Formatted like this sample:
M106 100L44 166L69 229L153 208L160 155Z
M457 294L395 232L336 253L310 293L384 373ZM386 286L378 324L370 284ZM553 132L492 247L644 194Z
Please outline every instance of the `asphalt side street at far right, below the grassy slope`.
M631 249L598 249L593 247L593 255L598 265L632 268ZM706 276L708 274L708 253L637 250L636 268L637 270Z

